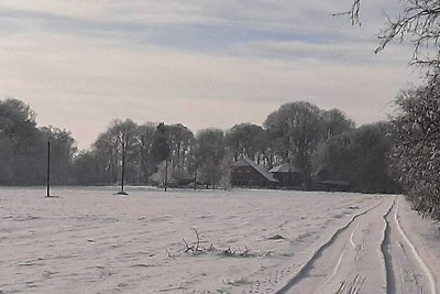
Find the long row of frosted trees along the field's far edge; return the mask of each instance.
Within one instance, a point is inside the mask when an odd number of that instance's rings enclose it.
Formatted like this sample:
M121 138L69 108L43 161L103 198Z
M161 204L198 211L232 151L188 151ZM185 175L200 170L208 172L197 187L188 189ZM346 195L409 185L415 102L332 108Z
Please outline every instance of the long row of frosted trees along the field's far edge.
M123 171L132 185L228 186L230 163L248 157L267 168L294 164L305 188L316 171L326 168L332 179L350 182L353 190L398 190L389 176L389 123L355 128L342 111L307 101L280 106L262 126L240 123L196 134L182 123L116 119L86 151L76 148L68 130L38 128L35 119L25 102L0 101L1 185L43 184L51 141L52 182L58 185L114 185Z

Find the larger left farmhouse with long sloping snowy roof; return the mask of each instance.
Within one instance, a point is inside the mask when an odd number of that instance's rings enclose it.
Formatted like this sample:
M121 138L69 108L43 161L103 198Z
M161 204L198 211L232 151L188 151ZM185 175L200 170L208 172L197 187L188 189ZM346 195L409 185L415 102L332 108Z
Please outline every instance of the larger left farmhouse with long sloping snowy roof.
M273 187L279 182L263 166L249 159L231 164L231 183L234 186Z

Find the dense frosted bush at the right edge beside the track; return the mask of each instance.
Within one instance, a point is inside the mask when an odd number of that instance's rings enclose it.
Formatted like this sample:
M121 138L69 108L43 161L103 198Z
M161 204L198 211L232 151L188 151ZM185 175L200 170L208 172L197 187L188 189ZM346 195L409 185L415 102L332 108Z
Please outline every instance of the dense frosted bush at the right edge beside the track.
M392 119L393 162L414 208L440 219L440 77L403 91Z

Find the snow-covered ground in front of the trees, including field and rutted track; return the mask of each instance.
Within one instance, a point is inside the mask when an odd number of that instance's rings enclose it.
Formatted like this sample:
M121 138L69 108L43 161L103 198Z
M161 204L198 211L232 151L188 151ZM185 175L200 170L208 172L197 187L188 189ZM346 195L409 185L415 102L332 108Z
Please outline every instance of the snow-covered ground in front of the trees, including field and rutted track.
M400 196L117 190L0 188L0 293L440 293Z

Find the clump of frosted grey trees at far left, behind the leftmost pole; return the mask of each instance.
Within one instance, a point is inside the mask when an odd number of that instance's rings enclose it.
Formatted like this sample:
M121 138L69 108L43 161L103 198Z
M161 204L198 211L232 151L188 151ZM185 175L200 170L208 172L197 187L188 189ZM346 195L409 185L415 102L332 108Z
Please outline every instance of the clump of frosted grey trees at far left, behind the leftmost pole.
M74 184L75 139L67 130L37 128L35 119L35 112L24 101L0 100L0 184L44 184L47 141L52 143L53 183Z

